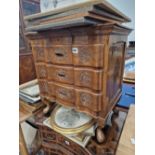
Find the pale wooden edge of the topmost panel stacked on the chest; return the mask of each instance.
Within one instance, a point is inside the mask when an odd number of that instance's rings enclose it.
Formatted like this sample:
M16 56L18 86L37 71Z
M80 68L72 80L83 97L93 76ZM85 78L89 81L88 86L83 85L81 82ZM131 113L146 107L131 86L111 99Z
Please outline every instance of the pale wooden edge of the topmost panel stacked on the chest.
M42 18L42 17L46 17L49 15L54 15L54 14L58 14L58 13L62 13L65 11L69 11L69 10L73 10L73 9L77 9L77 8L81 8L81 7L85 7L85 6L92 6L92 5L99 5L100 7L102 7L103 9L106 9L124 19L126 19L127 21L131 21L130 18L128 18L126 15L124 15L122 12L120 12L119 10L117 10L115 7L113 7L110 3L108 3L106 0L90 0L87 2L82 2L79 4L73 4L70 6L66 6L63 8L57 8L48 12L43 12L43 13L37 13L34 15L30 15L30 16L26 16L24 17L25 20L34 20L37 18Z

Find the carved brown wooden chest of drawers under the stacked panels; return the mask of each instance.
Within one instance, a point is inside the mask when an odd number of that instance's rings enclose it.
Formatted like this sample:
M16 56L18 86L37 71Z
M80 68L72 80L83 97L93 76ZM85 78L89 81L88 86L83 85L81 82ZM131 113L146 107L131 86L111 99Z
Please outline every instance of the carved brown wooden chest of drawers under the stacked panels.
M107 24L29 36L42 101L85 112L103 127L121 96L129 32L126 27Z

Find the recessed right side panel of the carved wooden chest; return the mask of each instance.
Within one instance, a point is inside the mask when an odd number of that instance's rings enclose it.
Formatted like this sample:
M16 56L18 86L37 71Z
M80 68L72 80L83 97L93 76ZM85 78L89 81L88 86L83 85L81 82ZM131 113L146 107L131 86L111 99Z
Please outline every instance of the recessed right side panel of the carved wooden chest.
M114 106L116 98L121 95L126 39L123 35L110 36L106 80L107 110Z

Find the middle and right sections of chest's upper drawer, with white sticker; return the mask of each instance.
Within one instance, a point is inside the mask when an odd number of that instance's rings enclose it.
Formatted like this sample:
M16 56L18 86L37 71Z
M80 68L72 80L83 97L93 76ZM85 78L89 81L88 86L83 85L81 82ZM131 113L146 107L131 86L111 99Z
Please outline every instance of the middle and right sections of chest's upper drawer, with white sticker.
M45 48L46 62L74 66L103 67L103 45L58 45Z

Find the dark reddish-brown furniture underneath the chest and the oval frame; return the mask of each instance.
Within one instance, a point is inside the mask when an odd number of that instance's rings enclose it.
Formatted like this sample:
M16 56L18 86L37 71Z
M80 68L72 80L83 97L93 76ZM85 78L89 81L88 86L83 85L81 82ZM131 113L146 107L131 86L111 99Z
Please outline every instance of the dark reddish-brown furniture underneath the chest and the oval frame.
M53 108L55 106L53 105ZM46 155L114 155L117 144L123 129L127 113L119 111L114 113L111 117L112 125L106 125L104 131L106 132L106 140L99 144L95 137L92 137L85 148L79 146L64 135L57 133L51 128L43 124L48 117L44 116L43 112L38 113L34 117L35 125L39 128L40 139L42 143L42 150Z

